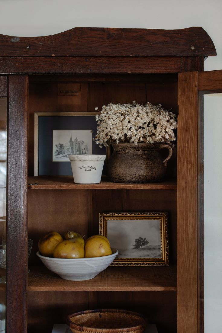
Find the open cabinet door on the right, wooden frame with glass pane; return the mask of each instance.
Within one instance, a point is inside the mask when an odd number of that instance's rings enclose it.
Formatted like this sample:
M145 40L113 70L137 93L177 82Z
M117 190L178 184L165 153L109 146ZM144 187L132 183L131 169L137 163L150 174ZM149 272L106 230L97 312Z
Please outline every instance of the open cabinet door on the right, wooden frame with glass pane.
M183 239L183 247L178 243L177 269L183 268L186 274L177 277L177 328L186 333L219 333L222 326L222 70L180 73L178 105L178 142L182 147L178 152L178 166L185 173L181 176L179 170L177 184L177 241ZM186 198L187 205L181 197ZM188 322L187 318L190 318Z

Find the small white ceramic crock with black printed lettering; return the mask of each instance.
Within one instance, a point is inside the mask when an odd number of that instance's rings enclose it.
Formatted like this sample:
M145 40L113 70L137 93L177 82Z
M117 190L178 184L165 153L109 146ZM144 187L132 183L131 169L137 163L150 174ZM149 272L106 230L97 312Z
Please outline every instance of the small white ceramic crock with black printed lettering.
M75 183L100 183L106 155L69 155L69 159Z

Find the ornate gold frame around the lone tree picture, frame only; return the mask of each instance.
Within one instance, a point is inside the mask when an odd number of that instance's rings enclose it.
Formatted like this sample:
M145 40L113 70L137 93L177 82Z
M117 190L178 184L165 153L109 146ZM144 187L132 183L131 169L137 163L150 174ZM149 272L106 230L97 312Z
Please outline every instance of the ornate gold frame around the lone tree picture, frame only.
M99 233L107 236L107 222L109 220L159 220L160 221L160 243L161 258L116 258L112 266L168 266L169 265L169 241L168 221L166 212L121 212L121 213L99 213ZM111 244L112 245L112 244Z

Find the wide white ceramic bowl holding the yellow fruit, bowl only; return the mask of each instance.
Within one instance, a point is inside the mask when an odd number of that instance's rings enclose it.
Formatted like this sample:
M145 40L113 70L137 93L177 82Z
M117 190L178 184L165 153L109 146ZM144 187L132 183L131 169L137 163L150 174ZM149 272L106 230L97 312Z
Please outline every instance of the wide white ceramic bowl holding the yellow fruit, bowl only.
M83 281L93 279L106 269L117 256L118 250L112 248L112 254L104 257L78 259L44 257L39 251L36 254L49 270L58 274L62 279Z

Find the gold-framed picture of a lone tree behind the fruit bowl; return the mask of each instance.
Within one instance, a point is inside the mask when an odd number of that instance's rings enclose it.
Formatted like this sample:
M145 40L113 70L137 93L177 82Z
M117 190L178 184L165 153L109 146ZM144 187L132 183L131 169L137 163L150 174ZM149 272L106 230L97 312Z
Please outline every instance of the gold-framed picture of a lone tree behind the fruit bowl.
M169 265L166 212L100 213L99 233L119 251L112 266Z

